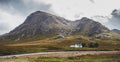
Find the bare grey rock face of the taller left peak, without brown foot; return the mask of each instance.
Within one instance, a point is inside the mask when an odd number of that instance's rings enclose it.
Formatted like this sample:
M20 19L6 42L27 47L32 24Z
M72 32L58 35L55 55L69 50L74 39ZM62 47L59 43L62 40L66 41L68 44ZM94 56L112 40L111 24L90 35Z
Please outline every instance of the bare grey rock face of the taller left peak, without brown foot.
M69 25L69 21L64 18L37 11L28 16L25 22L11 31L10 34L24 34L26 36L28 34L29 36L50 34L68 30Z

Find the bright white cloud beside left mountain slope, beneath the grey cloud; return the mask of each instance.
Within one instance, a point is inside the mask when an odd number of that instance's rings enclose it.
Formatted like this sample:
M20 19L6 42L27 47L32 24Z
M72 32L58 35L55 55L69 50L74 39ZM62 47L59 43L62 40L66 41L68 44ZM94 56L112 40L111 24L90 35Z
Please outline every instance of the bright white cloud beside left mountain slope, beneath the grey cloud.
M0 10L0 33L7 33L24 21L21 15ZM1 32L2 31L2 32Z

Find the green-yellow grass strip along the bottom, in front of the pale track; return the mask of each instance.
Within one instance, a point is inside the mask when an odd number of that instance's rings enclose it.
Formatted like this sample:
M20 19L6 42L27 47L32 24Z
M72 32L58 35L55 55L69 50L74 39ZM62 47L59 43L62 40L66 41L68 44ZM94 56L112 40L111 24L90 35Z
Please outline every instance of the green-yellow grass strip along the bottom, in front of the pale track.
M2 62L120 62L120 54L83 55L76 57L20 57L0 59Z

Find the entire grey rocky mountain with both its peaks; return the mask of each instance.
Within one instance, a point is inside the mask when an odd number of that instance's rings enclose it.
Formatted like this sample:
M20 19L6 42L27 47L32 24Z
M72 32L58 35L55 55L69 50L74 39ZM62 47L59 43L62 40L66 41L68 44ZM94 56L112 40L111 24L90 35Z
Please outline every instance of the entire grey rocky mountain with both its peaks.
M33 40L56 36L56 34L67 36L81 33L93 36L103 32L109 32L109 29L86 17L76 21L69 21L59 16L36 11L30 14L23 24L1 36L0 41Z

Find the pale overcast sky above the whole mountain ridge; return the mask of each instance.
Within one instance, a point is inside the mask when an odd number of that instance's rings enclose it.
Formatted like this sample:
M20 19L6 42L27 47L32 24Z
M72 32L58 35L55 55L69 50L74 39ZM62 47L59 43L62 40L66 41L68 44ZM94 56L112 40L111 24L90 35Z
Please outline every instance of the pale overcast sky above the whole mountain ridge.
M120 0L0 0L0 34L14 29L30 13L38 10L76 20L96 15L109 16L119 8Z

